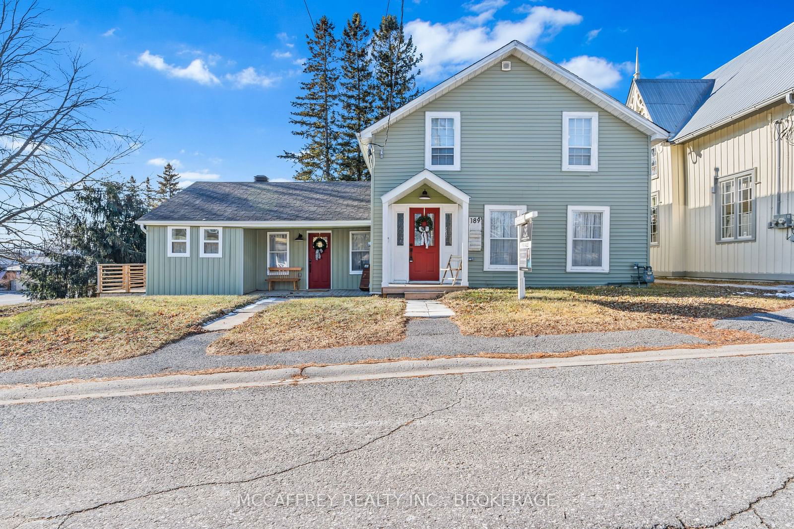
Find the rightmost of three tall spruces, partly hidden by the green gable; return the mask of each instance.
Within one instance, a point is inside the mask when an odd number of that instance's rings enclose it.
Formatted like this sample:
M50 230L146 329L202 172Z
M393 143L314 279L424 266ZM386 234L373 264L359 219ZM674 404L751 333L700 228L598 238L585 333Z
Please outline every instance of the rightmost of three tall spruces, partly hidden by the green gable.
M387 116L421 91L416 86L416 76L422 71L414 69L422 62L417 54L413 37L405 38L402 23L394 15L386 15L380 28L372 34L372 60L375 64L376 119Z

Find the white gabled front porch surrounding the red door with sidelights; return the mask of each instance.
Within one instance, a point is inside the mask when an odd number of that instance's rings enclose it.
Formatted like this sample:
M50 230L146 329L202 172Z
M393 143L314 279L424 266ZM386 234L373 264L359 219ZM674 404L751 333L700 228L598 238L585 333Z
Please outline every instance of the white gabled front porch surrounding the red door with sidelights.
M381 293L467 288L468 194L425 170L388 191L380 200L383 204ZM445 274L450 260L456 270Z

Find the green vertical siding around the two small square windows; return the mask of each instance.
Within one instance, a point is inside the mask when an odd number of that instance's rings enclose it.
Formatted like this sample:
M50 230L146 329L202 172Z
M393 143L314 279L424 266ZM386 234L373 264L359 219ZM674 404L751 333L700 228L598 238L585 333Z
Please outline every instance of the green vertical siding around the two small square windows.
M222 257L198 257L198 228L191 228L190 257L168 257L164 226L146 230L146 293L243 293L243 230L223 228Z

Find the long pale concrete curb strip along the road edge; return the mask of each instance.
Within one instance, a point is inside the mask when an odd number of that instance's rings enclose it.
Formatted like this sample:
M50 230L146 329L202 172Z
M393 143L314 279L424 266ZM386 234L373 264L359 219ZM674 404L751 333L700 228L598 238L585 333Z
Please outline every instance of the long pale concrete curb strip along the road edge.
M569 358L437 358L372 364L284 368L233 373L127 378L113 381L83 381L42 388L23 386L0 389L0 405L75 401L87 398L125 397L151 393L184 393L217 389L239 389L272 385L318 384L384 378L426 377L486 371L534 370L574 366L598 366L640 362L725 358L730 356L794 353L794 343L756 343L704 349L668 349L639 353L581 355Z

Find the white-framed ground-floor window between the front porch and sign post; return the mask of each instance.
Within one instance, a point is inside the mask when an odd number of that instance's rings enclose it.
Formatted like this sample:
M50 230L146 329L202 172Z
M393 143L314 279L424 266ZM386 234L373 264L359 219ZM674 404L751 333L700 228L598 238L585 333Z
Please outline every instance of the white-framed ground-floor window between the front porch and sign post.
M526 205L486 205L484 213L483 270L518 269L518 228L515 217L526 213Z

